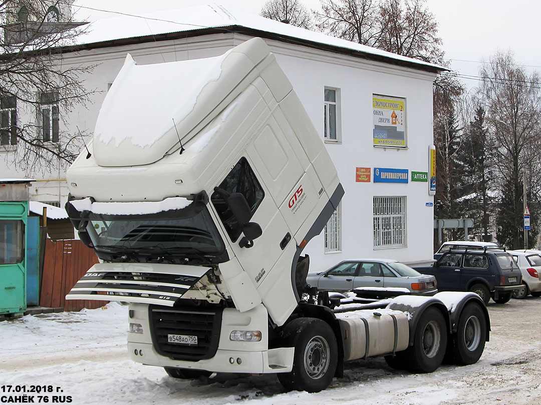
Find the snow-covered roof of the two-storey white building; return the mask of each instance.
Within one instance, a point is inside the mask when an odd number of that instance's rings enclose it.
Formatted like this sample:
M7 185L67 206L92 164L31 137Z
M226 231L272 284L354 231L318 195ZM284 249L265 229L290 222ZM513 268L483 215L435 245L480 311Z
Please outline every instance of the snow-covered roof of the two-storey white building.
M369 59L385 60L388 63L402 62L415 65L415 68L423 70L446 70L436 64L395 55L391 52L281 23L246 11L226 8L219 4L157 11L140 16L126 15L99 19L87 25L85 32L78 36L75 42L76 45L83 45L85 48L97 48L106 46L103 43L120 39L149 37L149 40L155 40L156 36L162 34L198 30L208 31L208 29L227 29L232 32L239 32L239 27L261 31L262 33L271 33L278 36L276 39L285 40L286 42L288 39L293 38L298 43L298 40L301 39L301 43L304 45L311 43L323 45L327 48L342 49L343 51L357 51L361 52L363 57ZM201 32L201 35L204 33L206 32Z

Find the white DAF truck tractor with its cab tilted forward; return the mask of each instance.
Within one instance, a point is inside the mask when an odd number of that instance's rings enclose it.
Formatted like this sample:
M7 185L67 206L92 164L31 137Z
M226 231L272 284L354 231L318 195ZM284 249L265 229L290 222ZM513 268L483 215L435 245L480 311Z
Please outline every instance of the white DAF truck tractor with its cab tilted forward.
M128 55L67 173L69 217L100 263L68 299L129 303L131 359L180 379L278 373L317 392L345 361L432 372L476 362L479 296L399 296L332 311L306 295L306 244L344 190L260 38L224 55Z

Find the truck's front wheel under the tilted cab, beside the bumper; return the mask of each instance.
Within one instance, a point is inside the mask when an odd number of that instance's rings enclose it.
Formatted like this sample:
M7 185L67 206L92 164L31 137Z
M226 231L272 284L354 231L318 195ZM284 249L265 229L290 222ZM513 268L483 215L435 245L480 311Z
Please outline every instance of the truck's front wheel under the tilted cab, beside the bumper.
M298 318L282 331L284 347L294 347L293 369L278 373L287 390L316 393L331 383L338 363L336 336L327 322L316 318Z

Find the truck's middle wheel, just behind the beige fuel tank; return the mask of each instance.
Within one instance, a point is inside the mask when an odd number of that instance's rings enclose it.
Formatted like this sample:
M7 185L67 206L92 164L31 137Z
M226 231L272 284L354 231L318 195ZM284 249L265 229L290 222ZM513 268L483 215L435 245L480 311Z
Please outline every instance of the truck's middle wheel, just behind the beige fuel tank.
M447 325L437 308L427 308L413 335L413 345L404 351L406 369L412 373L432 373L444 359Z

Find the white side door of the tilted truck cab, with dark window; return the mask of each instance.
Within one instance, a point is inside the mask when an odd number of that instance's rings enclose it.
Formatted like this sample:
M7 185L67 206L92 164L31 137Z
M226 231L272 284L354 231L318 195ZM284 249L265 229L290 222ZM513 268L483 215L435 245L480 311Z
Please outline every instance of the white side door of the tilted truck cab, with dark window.
M221 220L223 230L229 237L230 246L240 265L257 288L271 271L283 249L291 243L286 237L289 234L286 221L270 197L265 184L256 176L249 157L241 156L218 187L227 193L244 195L252 210L250 221L257 222L263 231L261 237L254 240L253 247L240 247L239 241L243 235L239 223L234 218L223 194L217 191L212 193L210 201ZM287 273L291 274L291 267L288 268Z

